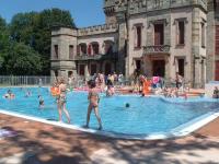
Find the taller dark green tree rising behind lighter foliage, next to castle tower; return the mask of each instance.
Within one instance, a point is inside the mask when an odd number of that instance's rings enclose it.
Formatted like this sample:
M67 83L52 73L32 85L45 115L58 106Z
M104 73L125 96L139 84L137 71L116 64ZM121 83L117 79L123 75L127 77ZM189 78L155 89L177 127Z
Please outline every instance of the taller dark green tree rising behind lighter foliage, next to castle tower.
M42 56L42 74L50 72L50 33L53 26L76 27L69 11L60 9L44 10L39 13L18 13L10 24L13 40L33 47Z

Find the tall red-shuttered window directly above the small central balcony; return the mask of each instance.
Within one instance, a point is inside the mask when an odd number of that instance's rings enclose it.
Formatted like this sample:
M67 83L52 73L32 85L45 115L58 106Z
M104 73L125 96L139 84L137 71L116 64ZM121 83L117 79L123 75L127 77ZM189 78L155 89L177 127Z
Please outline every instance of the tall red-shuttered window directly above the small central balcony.
M154 45L164 44L164 25L154 24Z

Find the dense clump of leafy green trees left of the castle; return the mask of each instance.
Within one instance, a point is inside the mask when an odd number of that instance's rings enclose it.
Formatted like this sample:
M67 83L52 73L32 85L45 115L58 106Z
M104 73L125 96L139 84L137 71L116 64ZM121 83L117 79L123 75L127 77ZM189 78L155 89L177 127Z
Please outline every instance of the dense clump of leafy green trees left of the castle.
M60 9L18 13L9 25L0 16L0 73L48 75L53 26L76 27L70 12Z

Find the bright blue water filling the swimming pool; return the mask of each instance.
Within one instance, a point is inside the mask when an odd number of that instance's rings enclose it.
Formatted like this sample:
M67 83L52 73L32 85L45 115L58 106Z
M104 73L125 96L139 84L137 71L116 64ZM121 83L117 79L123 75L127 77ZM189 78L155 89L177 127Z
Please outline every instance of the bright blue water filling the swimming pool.
M56 102L50 96L48 89L32 87L31 97L25 97L26 89L11 89L16 98L9 101L0 97L0 109L15 112L22 115L34 116L50 120L58 119ZM0 89L0 95L8 89ZM42 94L45 107L38 108L37 95ZM73 125L83 126L87 118L88 93L71 92L68 94L67 108ZM126 108L125 104L130 107ZM155 132L169 132L170 130L188 122L209 112L218 110L219 102L207 98L165 99L161 97L140 97L137 95L116 95L105 97L101 94L100 115L103 121L103 130L125 134L147 134ZM65 118L66 120L66 118ZM99 127L94 114L91 116L90 127Z

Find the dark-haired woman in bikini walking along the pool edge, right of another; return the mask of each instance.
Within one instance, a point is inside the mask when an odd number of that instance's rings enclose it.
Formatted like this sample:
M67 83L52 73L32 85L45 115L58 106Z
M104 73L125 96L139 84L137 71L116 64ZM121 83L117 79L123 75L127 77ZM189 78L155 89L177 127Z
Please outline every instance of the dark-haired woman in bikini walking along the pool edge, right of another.
M94 109L96 119L99 121L99 130L102 130L101 117L99 115L100 97L99 97L97 92L94 90L95 89L95 81L93 81L93 80L89 81L88 85L89 85L89 89L90 89L89 96L88 96L88 99L90 101L90 104L89 104L89 107L88 107L85 128L89 128L91 112L92 112L92 109Z

